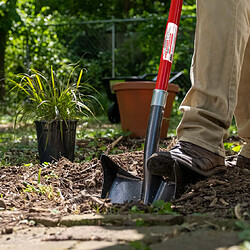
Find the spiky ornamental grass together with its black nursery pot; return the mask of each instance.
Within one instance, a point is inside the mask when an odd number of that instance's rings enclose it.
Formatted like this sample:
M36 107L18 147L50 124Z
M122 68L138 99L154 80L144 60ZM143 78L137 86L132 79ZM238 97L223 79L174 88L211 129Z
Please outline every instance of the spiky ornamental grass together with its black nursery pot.
M87 104L91 99L98 100L86 93L97 91L82 83L84 69L75 77L77 68L78 65L71 69L65 81L57 77L52 66L49 79L32 69L30 74L17 75L19 81L12 80L15 86L11 91L22 96L15 127L23 119L35 121L40 163L62 156L73 162L77 121L83 116L94 116Z

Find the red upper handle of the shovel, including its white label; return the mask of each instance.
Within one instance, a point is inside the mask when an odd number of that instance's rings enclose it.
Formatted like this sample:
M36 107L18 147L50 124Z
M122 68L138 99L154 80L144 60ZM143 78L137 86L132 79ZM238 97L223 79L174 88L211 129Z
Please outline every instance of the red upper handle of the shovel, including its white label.
M183 0L172 0L166 25L156 89L167 90Z

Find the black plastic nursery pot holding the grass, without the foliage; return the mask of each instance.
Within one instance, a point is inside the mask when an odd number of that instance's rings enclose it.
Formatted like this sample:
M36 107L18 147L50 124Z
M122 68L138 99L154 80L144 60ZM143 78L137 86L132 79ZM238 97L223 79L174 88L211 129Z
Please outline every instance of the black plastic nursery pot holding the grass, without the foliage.
M40 162L74 161L77 120L35 121Z

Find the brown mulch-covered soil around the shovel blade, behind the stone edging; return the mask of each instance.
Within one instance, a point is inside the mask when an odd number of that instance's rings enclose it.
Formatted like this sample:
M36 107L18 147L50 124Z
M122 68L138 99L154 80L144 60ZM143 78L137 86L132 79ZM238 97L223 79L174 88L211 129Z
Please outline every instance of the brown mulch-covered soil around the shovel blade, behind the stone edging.
M142 176L143 151L136 151L142 142L127 138L117 141L116 147L124 153L112 155L112 159L129 172ZM114 146L109 140L105 143L109 145L108 150ZM174 140L162 143L171 147ZM78 146L83 145L87 143L78 142ZM53 218L66 214L128 212L134 204L118 206L100 199L102 178L97 158L80 164L62 158L49 165L2 167L0 228L22 223L34 213ZM187 185L184 194L172 202L173 209L184 215L209 213L217 217L246 219L250 214L249 179L250 170L237 167L235 157L230 156L226 173ZM148 206L137 205L147 211Z

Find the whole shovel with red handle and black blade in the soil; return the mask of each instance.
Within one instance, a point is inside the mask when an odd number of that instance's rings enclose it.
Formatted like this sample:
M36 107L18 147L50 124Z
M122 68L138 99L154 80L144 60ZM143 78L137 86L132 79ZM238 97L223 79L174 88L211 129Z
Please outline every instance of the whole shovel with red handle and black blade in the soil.
M108 156L101 156L103 168L103 186L101 198L109 198L111 203L124 204L131 201L143 201L144 204L156 200L170 201L175 197L177 187L178 164L173 164L173 180L164 180L152 175L147 169L148 158L159 149L160 130L167 100L167 87L183 0L172 0L166 25L160 67L156 87L153 91L150 115L145 139L142 180L118 166Z

